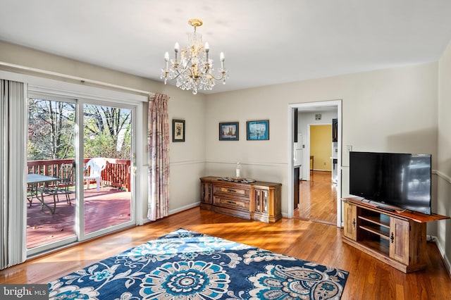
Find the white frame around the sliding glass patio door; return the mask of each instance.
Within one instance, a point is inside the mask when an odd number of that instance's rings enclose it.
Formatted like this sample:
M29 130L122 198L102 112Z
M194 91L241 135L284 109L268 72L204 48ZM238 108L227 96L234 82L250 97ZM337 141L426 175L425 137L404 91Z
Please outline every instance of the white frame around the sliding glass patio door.
M137 149L142 149L143 147L143 139L142 136L144 135L144 130L142 129L143 124L143 109L144 109L144 103L147 102L148 97L142 96L138 94L129 94L127 92L117 92L109 89L103 89L99 87L90 87L90 86L83 86L83 85L75 85L73 83L69 82L61 82L58 80L51 80L47 78L41 78L41 77L34 77L30 75L20 75L19 80L28 82L28 96L31 94L36 95L46 95L47 98L51 97L51 99L55 99L56 101L68 101L68 99L75 99L75 105L76 105L76 118L75 127L77 128L78 132L76 132L76 140L75 140L75 151L76 151L76 161L80 161L80 158L82 158L82 145L80 145L80 133L83 132L82 130L82 104L88 103L88 104L95 104L95 105L104 105L104 106L120 106L124 108L131 109L134 113L134 123L132 124L132 132L133 132L133 139L134 144L132 145L132 157L130 158L131 165L132 165L132 180L131 180L131 186L132 186L132 209L134 210L133 218L130 220L130 225L142 225L142 215L143 215L143 203L142 201L139 201L141 197L138 197L138 195L143 194L144 192L144 181L142 180L140 173L142 173L141 169L143 168L142 165L144 165L144 154L140 153L140 151L137 151ZM81 109L80 109L81 107ZM27 108L26 108L27 109ZM80 131L81 130L81 131ZM26 135L26 132L24 133ZM25 146L25 145L24 145ZM81 151L81 152L80 152ZM76 189L76 198L77 201L80 201L80 185L83 184L83 165L78 163L77 166L77 189ZM81 168L81 169L80 169ZM135 172L133 172L135 171ZM81 172L81 173L80 173ZM25 204L24 204L25 205ZM82 206L78 205L77 209L75 210L75 220L82 220L80 219L82 215ZM24 220L23 226L26 227L26 218ZM129 226L130 226L129 225ZM84 227L78 226L75 228L75 237L70 237L68 239L61 239L57 242L52 242L49 244L44 244L42 246L37 246L32 249L26 249L27 251L27 257L35 256L37 254L42 254L47 251L51 251L53 249L59 249L64 246L68 246L70 244L75 244L78 242L83 242L87 239L90 239L92 237L97 237L100 235L104 235L108 232L112 232L113 230L121 230L121 228L118 228L120 225L116 225L113 227L109 227L107 230L99 230L98 232L93 232L85 235L84 233ZM94 233L96 235L94 235ZM26 246L24 246L25 248Z

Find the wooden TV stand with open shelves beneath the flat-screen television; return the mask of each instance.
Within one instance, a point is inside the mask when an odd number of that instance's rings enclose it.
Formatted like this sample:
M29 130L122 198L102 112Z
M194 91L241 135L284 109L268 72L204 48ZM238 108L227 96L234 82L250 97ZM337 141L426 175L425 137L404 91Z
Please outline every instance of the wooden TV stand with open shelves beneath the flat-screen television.
M342 241L404 273L426 268L426 223L450 217L386 211L362 200L342 199Z

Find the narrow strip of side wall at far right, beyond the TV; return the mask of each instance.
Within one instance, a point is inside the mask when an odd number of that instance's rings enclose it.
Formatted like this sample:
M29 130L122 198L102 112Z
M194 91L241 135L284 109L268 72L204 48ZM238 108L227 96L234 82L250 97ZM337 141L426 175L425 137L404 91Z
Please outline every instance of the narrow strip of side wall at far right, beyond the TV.
M451 215L451 43L438 62L438 185L434 212ZM451 270L451 220L437 223L440 252Z

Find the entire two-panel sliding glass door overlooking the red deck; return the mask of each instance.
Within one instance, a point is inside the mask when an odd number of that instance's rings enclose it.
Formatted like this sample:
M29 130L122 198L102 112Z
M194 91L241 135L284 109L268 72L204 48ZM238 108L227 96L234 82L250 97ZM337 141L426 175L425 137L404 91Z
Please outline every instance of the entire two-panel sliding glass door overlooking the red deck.
M29 96L27 254L135 225L137 106Z

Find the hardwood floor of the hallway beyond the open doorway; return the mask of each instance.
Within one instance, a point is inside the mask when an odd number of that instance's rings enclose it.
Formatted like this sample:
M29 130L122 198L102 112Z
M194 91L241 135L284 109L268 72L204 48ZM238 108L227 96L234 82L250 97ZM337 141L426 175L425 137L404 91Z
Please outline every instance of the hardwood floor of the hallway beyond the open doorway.
M314 222L337 224L337 188L332 174L313 171L309 181L299 182L299 208L295 218Z

